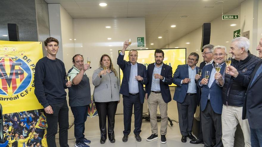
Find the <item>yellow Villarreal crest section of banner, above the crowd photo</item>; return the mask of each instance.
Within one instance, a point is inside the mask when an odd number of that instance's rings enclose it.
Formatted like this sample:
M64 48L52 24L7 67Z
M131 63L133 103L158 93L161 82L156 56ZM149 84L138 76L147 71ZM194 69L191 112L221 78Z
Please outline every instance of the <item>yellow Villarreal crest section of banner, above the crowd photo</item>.
M41 42L0 41L0 103L3 114L43 109L34 94Z

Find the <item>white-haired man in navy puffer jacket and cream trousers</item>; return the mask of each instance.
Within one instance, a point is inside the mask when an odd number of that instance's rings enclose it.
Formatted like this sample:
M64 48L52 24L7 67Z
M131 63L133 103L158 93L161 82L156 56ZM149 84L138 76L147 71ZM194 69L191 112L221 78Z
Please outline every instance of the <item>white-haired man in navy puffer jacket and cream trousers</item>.
M230 44L229 53L232 54L231 66L239 73L249 76L256 64L261 60L249 52L250 42L246 37L237 37ZM222 91L222 142L226 147L234 146L234 136L238 123L244 134L245 147L250 144L250 129L247 119L242 120L242 109L247 88L233 80L234 77L225 74Z

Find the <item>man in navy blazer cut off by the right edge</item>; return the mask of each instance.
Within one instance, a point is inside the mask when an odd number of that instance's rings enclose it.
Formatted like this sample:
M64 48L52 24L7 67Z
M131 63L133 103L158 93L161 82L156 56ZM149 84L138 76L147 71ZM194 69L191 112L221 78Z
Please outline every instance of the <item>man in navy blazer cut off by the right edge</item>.
M262 58L262 38L259 41L257 50L259 58ZM253 72L249 76L238 73L238 70L233 66L226 69L229 75L235 78L235 81L240 85L247 87L246 98L244 99L242 119L247 119L250 127L251 146L262 145L262 98L261 98L261 83L262 83L262 61L258 62Z

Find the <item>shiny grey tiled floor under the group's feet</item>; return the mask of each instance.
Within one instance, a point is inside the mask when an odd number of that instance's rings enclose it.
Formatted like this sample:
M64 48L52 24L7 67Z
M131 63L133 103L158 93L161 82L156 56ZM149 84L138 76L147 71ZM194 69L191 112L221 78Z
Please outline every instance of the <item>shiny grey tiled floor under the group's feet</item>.
M178 121L178 113L177 113L177 104L174 100L168 103L168 116L171 119L175 119ZM203 147L202 144L199 145L193 145L189 143L189 139L187 138L186 143L182 143L181 140L181 134L179 130L179 125L175 122L173 122L173 126L171 127L170 124L167 127L167 143L162 144L160 143L160 137L156 140L153 140L151 142L146 141L146 138L151 135L151 128L150 128L150 122L144 121L142 122L142 132L140 134L142 141L137 142L135 141L134 134L132 133L132 130L134 130L134 116L132 116L132 126L131 126L131 133L129 135L128 141L126 143L122 142L123 137L123 130L124 130L124 124L123 124L123 115L119 114L116 115L116 122L115 122L115 143L110 143L110 141L107 139L105 144L100 144L100 131L99 131L99 119L97 117L88 118L88 120L85 123L85 136L89 140L91 140L91 144L89 144L91 147ZM69 122L71 124L71 122ZM158 130L160 129L160 122L158 122ZM160 134L160 132L158 132ZM58 138L58 135L57 135ZM74 138L74 127L68 130L68 139ZM57 147L59 146L58 140L57 141ZM75 146L75 139L68 140L69 147Z

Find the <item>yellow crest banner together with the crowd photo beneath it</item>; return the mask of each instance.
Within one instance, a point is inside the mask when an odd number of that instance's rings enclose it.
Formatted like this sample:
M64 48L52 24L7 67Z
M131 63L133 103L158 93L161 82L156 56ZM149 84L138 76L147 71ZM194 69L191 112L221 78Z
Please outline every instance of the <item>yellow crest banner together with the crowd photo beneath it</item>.
M34 94L35 64L42 57L41 42L0 41L0 103L4 136L14 140L21 135L26 138L34 132L35 139L31 140L35 141L34 146L43 139L47 127L43 106Z

